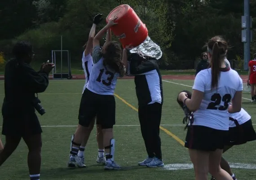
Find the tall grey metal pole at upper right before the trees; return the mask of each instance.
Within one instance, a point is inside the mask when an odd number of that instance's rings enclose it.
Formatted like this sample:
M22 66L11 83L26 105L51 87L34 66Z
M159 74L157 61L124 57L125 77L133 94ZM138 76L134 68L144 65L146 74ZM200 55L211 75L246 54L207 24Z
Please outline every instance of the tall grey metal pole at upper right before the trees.
M244 64L243 69L248 70L248 63L251 59L251 18L250 18L250 0L244 0L244 16L246 17L246 42L243 44Z

